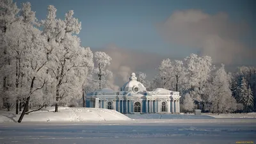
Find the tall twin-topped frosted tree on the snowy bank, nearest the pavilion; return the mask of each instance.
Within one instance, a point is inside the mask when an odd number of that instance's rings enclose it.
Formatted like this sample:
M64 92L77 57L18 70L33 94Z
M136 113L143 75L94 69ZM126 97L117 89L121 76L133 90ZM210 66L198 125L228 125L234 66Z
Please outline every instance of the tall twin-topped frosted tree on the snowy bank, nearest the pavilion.
M57 20L56 8L49 6L47 19L42 20L44 36L51 45L45 58L49 61L48 72L56 89L55 112L58 112L59 102L67 104L72 98L81 98L84 79L93 67L92 51L89 47L81 47L77 37L81 22L73 15L71 10L66 13L65 20Z

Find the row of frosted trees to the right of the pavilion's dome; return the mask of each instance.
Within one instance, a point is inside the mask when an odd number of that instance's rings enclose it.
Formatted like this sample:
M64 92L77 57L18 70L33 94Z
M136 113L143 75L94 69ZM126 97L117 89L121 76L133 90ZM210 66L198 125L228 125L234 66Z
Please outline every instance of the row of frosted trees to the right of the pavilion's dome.
M228 113L256 109L256 68L239 67L237 72L227 73L224 65L216 68L209 56L190 54L184 61L163 60L148 89L157 86L180 92L183 111Z

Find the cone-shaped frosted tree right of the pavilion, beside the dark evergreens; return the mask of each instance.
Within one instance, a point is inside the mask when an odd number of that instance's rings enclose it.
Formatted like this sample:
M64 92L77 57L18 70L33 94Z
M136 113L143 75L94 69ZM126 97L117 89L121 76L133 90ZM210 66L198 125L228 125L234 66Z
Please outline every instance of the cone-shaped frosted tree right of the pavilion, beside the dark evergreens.
M208 101L212 113L220 114L236 110L236 99L232 97L230 90L230 76L225 72L224 65L221 65L214 76Z

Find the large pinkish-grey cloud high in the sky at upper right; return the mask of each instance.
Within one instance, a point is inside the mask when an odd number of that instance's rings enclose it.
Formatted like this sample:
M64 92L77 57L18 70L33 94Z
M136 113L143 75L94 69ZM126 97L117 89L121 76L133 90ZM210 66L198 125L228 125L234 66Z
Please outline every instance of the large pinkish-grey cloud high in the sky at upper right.
M231 22L227 13L209 15L200 10L176 11L157 27L172 44L196 48L214 63L237 63L252 56L241 38L248 32L244 22Z

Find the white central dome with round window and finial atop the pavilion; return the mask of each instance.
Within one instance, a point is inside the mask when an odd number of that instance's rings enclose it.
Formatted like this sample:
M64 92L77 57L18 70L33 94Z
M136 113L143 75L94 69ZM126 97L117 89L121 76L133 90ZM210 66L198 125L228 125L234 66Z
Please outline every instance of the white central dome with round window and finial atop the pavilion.
M142 83L137 81L137 77L135 73L132 73L129 79L130 81L128 81L127 83L124 84L124 86L122 86L121 91L125 91L125 92L133 91L136 93L146 91L145 86L143 86Z

